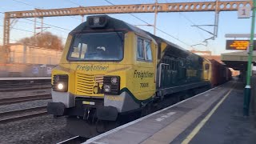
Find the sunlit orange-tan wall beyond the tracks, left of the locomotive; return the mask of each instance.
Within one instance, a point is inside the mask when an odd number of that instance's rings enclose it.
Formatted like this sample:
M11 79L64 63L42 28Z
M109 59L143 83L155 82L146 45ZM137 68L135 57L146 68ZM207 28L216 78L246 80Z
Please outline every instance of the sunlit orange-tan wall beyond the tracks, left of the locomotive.
M58 65L61 50L13 45L0 51L0 77L48 77Z

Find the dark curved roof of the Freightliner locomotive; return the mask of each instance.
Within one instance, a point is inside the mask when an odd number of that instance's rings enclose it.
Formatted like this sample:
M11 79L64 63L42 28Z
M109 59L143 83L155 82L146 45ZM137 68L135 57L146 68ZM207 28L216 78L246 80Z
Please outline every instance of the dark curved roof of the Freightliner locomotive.
M177 48L179 50L185 51L187 54L194 54L186 49L183 49L181 46L178 46L172 42L167 41L166 39L159 38L158 36L154 34L150 34L150 32L147 32L145 30L142 30L136 26L132 26L129 23L123 22L121 20L118 20L116 18L111 18L108 15L97 15L98 17L103 16L107 18L107 24L104 26L104 29L102 28L91 28L88 26L88 20L86 22L82 22L79 26L74 28L70 32L71 35L76 34L76 33L82 33L82 32L97 32L97 31L134 31L136 34L140 34L146 38L153 38L156 42L166 42L168 45ZM94 16L89 16L89 17L94 17ZM197 54L195 54L197 55ZM198 55L199 56L199 55ZM199 56L201 57L201 56Z

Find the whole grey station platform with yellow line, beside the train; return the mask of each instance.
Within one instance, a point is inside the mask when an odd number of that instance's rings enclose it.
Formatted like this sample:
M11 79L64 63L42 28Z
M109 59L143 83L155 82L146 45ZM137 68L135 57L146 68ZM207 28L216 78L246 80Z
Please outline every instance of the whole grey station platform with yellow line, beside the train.
M253 116L242 116L242 82L226 82L84 143L256 143Z

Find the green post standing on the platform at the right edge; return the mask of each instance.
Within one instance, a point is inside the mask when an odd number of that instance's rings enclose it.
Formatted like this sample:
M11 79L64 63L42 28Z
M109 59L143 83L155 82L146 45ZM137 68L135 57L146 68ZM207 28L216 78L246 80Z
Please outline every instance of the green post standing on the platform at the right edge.
M250 76L251 76L251 63L252 63L252 55L254 50L254 25L255 25L255 9L256 8L256 0L253 0L253 15L251 18L251 29L250 29L250 47L248 54L248 64L247 64L247 75L246 75L246 87L244 90L244 101L243 101L243 115L249 116L250 111Z

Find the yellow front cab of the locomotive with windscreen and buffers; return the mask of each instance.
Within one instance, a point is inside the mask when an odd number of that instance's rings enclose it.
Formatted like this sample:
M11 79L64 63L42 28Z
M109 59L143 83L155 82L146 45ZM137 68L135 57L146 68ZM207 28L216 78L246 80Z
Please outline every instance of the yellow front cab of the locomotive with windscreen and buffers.
M106 15L70 32L52 70L49 114L115 121L155 93L156 43L144 31Z

